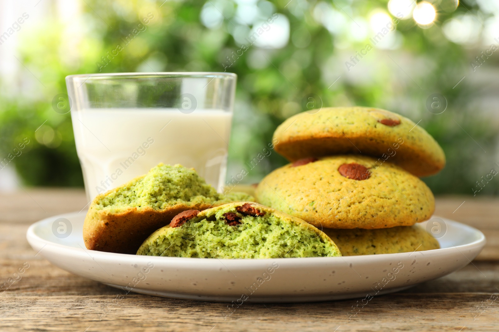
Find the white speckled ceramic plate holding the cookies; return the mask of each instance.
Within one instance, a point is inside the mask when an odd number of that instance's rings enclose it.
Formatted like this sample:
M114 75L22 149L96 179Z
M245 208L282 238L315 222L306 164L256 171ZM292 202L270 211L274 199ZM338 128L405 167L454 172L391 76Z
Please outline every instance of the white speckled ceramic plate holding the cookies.
M479 230L441 218L447 231L437 250L278 259L137 256L84 249L84 218L85 213L68 213L40 220L29 227L27 240L55 266L112 287L169 298L234 301L236 306L396 292L464 267L485 245Z

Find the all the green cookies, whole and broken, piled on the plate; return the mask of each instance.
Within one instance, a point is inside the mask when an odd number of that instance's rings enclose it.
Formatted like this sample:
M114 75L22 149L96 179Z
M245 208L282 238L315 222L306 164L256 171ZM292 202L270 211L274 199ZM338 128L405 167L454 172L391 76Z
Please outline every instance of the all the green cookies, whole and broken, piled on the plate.
M435 210L418 176L437 173L445 156L411 120L373 108L327 108L286 120L272 142L291 164L258 184L257 202L244 192L218 193L192 168L159 164L95 197L83 225L85 246L200 258L439 248L416 225Z

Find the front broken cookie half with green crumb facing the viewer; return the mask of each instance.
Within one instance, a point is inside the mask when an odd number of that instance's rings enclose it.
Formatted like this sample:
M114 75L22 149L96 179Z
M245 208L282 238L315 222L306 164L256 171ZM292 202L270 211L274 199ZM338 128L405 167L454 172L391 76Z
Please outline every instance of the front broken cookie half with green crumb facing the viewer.
M137 255L200 258L285 258L341 256L329 237L303 220L252 203L231 203L201 211L182 226L151 234ZM247 213L249 211L250 213ZM254 215L253 215L254 214ZM234 216L240 224L232 224ZM227 216L230 216L229 220Z

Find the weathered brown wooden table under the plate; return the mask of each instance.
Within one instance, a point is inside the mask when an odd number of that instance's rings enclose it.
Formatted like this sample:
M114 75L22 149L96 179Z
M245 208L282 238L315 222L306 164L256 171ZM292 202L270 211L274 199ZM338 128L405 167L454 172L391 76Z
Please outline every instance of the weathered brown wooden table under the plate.
M0 293L0 331L499 331L497 198L437 199L437 215L486 234L488 244L482 254L446 277L375 297L351 321L348 312L356 300L246 303L225 321L223 303L134 293L116 301L124 292L35 257L25 239L32 222L79 211L85 204L83 191L76 189L0 194L0 282L29 264L21 279Z

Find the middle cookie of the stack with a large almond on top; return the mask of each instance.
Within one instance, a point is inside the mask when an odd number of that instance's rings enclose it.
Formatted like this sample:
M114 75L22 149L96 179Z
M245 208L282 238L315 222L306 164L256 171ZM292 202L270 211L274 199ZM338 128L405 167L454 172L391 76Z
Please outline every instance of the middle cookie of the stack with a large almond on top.
M404 169L367 156L308 158L258 184L258 203L324 228L389 228L429 219L435 198Z

